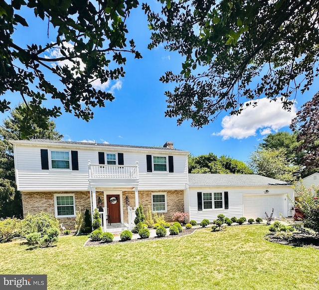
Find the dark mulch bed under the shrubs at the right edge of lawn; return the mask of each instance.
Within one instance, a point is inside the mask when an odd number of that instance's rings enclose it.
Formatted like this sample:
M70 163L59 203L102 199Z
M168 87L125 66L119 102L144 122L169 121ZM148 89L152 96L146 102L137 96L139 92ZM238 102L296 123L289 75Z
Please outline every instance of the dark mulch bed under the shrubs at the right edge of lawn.
M275 237L275 234L267 234L266 239L273 243L290 245L294 247L312 247L319 249L319 236L306 233L293 233L290 240Z

